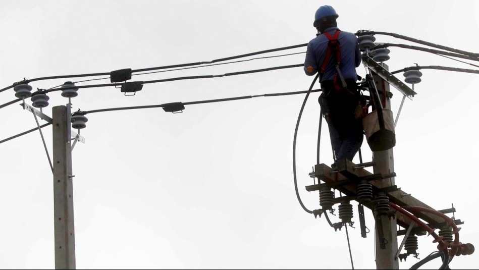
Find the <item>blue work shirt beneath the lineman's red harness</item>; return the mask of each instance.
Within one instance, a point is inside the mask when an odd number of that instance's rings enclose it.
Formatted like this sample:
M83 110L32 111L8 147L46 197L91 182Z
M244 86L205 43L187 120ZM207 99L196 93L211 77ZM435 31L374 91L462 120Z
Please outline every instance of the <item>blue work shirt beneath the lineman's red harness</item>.
M339 30L338 27L330 27L325 30L331 36ZM340 69L344 79L357 80L356 67L361 64L361 52L359 51L357 38L353 33L343 32L338 37L339 46L341 47ZM317 69L321 68L326 51L328 50L329 39L321 34L309 41L306 51L306 59L304 60L304 72L306 75L312 76L316 74ZM333 80L336 75L335 63L333 55L331 55L328 66L325 69L323 77L320 81ZM309 69L308 67L311 66Z

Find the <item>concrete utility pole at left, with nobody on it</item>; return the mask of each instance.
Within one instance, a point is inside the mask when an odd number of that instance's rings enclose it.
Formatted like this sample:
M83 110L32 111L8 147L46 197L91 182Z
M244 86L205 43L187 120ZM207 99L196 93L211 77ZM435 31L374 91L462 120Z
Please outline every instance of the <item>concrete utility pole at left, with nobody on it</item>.
M67 106L53 107L55 268L75 269L71 115Z

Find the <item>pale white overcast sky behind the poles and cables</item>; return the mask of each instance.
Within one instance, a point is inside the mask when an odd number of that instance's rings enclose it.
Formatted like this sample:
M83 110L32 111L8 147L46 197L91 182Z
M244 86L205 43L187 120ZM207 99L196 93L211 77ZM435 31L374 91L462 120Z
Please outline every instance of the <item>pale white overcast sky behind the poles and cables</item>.
M343 31L403 34L479 52L475 1L2 1L0 86L27 79L210 61L315 37L314 12L334 5ZM389 36L378 42L412 44ZM427 52L392 47L391 71L441 65L478 69ZM271 53L305 51L305 47ZM304 54L186 71L134 76L152 80L300 64ZM474 64L477 65L477 62ZM365 74L359 67L358 73ZM465 222L463 243L479 245L476 215L479 165L476 74L422 70L414 100L406 99L394 148L396 184L436 209L454 203ZM402 74L397 74L403 79ZM85 78L88 79L88 78ZM301 68L119 89L79 90L73 110L188 102L307 90ZM79 81L82 79L73 79ZM33 82L51 88L67 81ZM109 79L78 85L109 83ZM318 88L318 87L315 87ZM391 88L396 114L401 94ZM52 92L50 106L67 99ZM311 94L297 142L298 186L304 204L316 163L320 107ZM351 268L344 229L303 211L294 192L292 142L304 95L259 97L162 109L87 115L86 144L73 150L77 268ZM0 103L15 99L13 89ZM28 103L31 104L30 100ZM36 126L18 104L0 110L4 139ZM44 123L44 122L42 122ZM327 127L321 162L331 164ZM51 154L51 127L43 129ZM364 141L364 161L370 150ZM38 132L0 145L0 268L54 268L52 175ZM355 163L359 163L356 156ZM372 170L370 168L370 170ZM355 268L375 268L374 220L367 238L349 228ZM333 222L339 218L332 217ZM402 238L399 238L401 241ZM419 257L436 250L419 238ZM407 269L418 260L400 263ZM440 261L428 264L439 268ZM474 269L475 254L451 268Z

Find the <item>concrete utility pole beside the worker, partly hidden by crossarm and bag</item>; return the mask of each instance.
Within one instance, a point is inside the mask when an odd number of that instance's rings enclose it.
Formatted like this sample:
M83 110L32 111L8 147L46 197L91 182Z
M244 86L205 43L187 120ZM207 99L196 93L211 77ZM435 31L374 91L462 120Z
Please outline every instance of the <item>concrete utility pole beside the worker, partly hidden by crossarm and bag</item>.
M388 66L381 64L386 70ZM383 108L391 110L391 100L389 99L389 83L383 80L376 74L372 74L372 77L376 83L376 87L379 92L379 97L383 103ZM373 172L375 174L389 174L394 172L394 155L393 148L384 151L375 151L372 153L372 159L375 163L373 166ZM394 186L394 177L382 180L387 181L389 186ZM376 230L376 268L377 269L399 269L399 261L395 258L398 250L397 241L397 225L396 219L392 219L387 215L380 215L379 217L382 223L383 237L380 239L378 231ZM378 227L378 224L376 224ZM385 249L381 248L381 242L384 241Z

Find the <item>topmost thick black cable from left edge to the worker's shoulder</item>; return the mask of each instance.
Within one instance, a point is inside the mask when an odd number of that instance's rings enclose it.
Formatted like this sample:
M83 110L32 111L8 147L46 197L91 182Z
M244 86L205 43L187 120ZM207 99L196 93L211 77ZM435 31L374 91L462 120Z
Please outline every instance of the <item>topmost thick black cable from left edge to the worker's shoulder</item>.
M221 59L216 59L212 61L207 61L207 62L196 62L196 63L188 63L188 64L180 64L180 65L171 65L171 66L163 66L163 67L155 67L155 68L146 68L146 69L137 69L137 70L132 70L132 73L134 72L142 72L142 71L150 71L150 70L161 70L161 69L169 69L169 68L179 68L179 67L188 67L188 66L198 66L198 65L203 65L203 64L212 64L216 62L223 62L223 61L228 61L228 60L233 60L233 59L238 59L238 58L243 58L243 57L248 57L248 56L254 56L254 55L260 55L261 53L268 53L268 52L273 52L273 51L280 51L280 50L286 50L286 49L293 49L293 48L299 48L299 47L304 47L307 46L307 43L305 44L299 44L299 45L293 45L293 46L287 46L287 47L281 47L281 48L275 48L275 49L268 49L268 50L261 50L261 51L256 51L256 52L250 52L246 53L244 55L239 55L239 56L233 56L233 57L227 57L227 58L221 58ZM51 79L62 79L62 78L78 78L78 77L92 77L92 76L110 76L110 72L101 72L101 73L89 73L89 74L76 74L76 75L61 75L61 76L49 76L49 77L40 77L40 78L34 78L34 79L29 79L29 80L23 80L17 83L14 83L10 86L4 87L0 89L0 92L3 92L5 90L13 88L15 85L18 83L30 83L34 81L41 81L41 80L51 80Z

